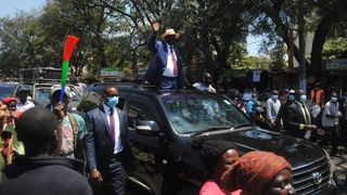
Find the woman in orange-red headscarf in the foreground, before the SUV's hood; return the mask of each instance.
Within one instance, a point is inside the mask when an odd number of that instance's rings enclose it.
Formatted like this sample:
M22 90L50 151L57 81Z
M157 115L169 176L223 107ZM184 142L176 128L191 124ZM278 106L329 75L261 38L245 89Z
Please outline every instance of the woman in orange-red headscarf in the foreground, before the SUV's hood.
M242 190L242 195L292 195L292 166L269 152L250 152L239 158L222 176L224 191Z

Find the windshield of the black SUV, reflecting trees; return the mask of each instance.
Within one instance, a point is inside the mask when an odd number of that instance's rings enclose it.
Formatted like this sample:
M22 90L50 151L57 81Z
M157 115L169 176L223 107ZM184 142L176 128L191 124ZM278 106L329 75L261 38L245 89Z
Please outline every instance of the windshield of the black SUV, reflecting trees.
M197 133L252 125L227 99L216 94L163 94L169 120L179 133Z

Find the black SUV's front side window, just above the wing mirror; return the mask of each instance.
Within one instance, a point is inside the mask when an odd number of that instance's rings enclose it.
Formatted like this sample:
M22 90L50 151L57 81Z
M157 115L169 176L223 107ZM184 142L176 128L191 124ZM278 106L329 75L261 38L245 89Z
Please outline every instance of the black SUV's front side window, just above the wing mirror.
M134 128L137 119L153 120L159 125L159 116L155 105L149 99L137 94L131 94L129 98L127 116L130 128Z

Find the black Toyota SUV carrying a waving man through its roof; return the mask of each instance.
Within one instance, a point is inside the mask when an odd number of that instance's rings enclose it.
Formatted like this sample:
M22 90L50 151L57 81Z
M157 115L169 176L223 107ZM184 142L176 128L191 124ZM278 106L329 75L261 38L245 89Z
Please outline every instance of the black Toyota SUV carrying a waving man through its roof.
M119 91L119 107L127 113L136 166L129 181L151 194L196 194L206 180L194 139L234 142L241 154L269 151L293 166L297 194L335 194L329 156L307 141L256 127L228 99L196 90L156 91L141 86L95 83L85 93L79 109L100 104L105 84Z

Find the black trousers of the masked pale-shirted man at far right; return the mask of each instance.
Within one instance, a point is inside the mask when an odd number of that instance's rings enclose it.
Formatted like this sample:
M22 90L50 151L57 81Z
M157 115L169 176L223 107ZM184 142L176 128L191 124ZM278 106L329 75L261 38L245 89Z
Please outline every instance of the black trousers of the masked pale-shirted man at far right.
M339 132L338 132L338 127L323 127L324 130L324 136L323 139L319 142L319 145L323 147L329 140L332 142L332 151L331 155L336 155L337 153L337 147L338 147L338 138L339 138Z

